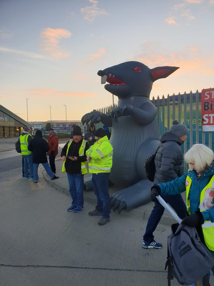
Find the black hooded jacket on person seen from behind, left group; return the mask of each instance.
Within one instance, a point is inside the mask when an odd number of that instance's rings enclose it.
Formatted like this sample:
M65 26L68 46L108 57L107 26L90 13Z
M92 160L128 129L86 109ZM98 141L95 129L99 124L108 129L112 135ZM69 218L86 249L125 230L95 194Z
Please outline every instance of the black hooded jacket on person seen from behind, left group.
M49 150L48 142L42 138L42 135L36 135L27 146L28 150L32 152L33 163L47 163L46 153Z

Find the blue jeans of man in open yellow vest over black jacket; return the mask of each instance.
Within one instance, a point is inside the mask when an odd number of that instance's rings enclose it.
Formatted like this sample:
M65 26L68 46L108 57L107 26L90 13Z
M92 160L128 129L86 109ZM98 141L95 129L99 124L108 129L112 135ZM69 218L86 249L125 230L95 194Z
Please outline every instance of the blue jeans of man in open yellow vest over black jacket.
M69 192L72 198L72 206L83 207L84 196L83 196L83 185L84 185L84 175L82 174L69 174L68 184Z

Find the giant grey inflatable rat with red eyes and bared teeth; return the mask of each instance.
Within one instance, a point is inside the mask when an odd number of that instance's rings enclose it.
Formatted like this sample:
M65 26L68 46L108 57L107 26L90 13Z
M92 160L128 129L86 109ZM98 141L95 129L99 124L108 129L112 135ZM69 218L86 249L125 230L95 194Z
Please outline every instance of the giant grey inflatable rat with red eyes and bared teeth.
M165 78L179 67L150 69L136 61L105 68L97 72L101 83L110 93L118 96L118 105L110 116L92 111L82 117L82 124L100 121L112 127L113 165L109 180L125 188L111 197L111 207L130 210L150 200L150 182L145 173L145 161L155 153L159 131L155 116L157 109L149 101L153 82Z

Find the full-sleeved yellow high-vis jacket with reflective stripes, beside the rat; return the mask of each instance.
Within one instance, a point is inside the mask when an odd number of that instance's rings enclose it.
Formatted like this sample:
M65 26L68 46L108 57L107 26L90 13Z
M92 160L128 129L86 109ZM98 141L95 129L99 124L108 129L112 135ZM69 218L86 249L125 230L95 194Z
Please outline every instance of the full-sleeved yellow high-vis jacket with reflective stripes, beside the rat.
M107 136L102 137L94 143L86 155L91 157L89 173L109 173L112 167L113 147Z

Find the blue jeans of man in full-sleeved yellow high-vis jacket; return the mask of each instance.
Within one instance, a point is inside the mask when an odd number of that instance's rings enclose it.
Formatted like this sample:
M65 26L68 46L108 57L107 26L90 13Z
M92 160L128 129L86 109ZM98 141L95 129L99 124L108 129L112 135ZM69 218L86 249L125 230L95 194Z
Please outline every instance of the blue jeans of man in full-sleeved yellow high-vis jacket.
M97 197L96 211L102 213L104 219L108 219L110 211L109 197L109 175L110 173L92 174L92 185L95 196Z

